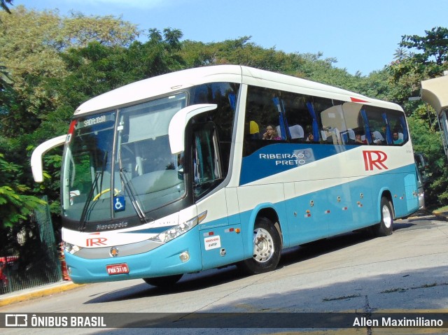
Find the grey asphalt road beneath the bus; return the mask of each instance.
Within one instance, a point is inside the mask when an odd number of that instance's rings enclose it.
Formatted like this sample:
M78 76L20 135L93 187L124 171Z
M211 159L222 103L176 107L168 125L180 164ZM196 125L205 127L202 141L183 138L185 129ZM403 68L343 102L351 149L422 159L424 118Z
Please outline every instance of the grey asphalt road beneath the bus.
M253 317L260 322L260 327L251 329L235 329L241 327L236 319L224 323L224 328L222 320L215 319L219 329L67 329L67 334L183 335L293 334L297 329L264 327L271 324L272 318L288 317L288 313L321 313L314 315L316 318L332 315L329 313L448 313L447 242L448 222L420 213L395 221L394 233L384 238L344 234L284 250L279 268L270 273L241 276L235 266L229 266L183 276L170 290L152 287L143 280L80 285L74 290L3 306L0 313L118 313L117 319L131 327L135 323L130 314L123 313L257 313ZM316 322L302 330L307 334L448 334L448 328L316 330L313 328L323 328ZM207 327L213 325L212 320Z

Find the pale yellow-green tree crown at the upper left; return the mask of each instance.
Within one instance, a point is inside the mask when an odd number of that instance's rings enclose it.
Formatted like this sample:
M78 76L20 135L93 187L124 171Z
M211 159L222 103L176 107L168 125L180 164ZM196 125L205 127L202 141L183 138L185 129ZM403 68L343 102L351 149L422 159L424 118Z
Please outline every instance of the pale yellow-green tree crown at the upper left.
M57 108L61 97L47 88L48 80L68 75L60 52L92 41L125 46L139 34L133 24L111 16L62 17L57 11L38 12L23 6L11 13L0 12L0 63L10 70L18 97L10 113L1 118L8 125L8 136L35 129L43 114Z

